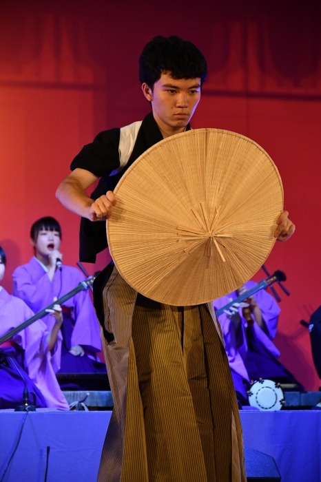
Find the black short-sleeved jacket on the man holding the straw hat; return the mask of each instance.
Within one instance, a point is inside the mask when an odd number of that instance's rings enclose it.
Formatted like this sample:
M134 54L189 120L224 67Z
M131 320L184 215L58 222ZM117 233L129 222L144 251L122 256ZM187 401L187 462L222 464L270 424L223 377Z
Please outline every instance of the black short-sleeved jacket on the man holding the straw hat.
M188 124L186 130L191 129ZM79 154L74 158L71 164L72 171L76 167L86 169L95 176L101 178L96 189L90 196L97 199L103 196L107 191L114 191L118 180L125 174L128 167L134 161L147 151L149 147L163 140L160 129L154 119L152 112L147 114L138 131L132 154L127 164L121 168L121 160L119 156L119 141L121 129L110 129L103 131L91 144L87 144L81 149ZM116 174L114 174L115 171ZM80 248L79 259L84 262L96 261L96 254L107 248L107 235L105 222L92 222L86 218L81 218L81 227L79 234Z

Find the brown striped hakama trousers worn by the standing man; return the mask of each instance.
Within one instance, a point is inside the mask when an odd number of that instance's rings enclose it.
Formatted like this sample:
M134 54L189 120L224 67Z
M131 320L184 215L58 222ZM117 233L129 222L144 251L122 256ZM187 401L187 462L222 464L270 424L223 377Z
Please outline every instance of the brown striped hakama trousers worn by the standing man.
M206 305L104 289L114 410L99 482L245 482L242 430L218 324Z

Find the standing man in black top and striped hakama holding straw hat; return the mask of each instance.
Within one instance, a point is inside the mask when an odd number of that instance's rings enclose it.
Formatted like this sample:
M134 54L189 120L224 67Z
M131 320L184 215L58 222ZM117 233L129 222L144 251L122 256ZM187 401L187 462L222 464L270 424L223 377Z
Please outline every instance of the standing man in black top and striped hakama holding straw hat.
M93 261L107 246L105 224L95 222L112 215L112 190L127 167L163 138L191 128L206 75L203 54L188 41L157 36L145 45L140 80L152 112L143 123L101 132L85 145L56 192L83 217L81 259ZM98 178L89 198L85 189ZM276 236L289 238L294 227L286 212L278 224ZM104 319L98 314L114 410L99 482L245 482L238 406L210 307L149 300L115 266L103 276L94 297L100 308L103 290Z

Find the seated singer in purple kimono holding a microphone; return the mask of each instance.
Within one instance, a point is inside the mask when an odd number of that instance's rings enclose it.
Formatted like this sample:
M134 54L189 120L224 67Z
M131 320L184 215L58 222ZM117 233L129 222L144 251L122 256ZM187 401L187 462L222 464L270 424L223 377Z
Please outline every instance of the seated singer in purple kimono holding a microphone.
M34 222L30 242L34 256L28 264L14 270L13 294L37 313L52 303L54 297L59 298L74 289L83 281L83 274L79 269L61 264L61 227L54 218L48 216ZM58 265L57 260L60 260ZM62 309L60 373L105 372L105 365L97 357L101 338L90 294L87 291L77 293L65 302ZM50 315L43 321L48 329L52 328Z

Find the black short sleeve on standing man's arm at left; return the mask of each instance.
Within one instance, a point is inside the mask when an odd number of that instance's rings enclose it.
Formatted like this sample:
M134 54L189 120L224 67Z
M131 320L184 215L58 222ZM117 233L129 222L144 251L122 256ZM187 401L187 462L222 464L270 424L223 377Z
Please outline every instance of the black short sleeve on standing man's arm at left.
M121 129L103 131L94 138L94 142L83 146L83 149L72 160L70 169L76 167L92 172L98 178L107 178L114 169L120 166L119 138Z

